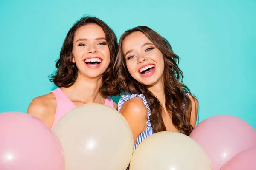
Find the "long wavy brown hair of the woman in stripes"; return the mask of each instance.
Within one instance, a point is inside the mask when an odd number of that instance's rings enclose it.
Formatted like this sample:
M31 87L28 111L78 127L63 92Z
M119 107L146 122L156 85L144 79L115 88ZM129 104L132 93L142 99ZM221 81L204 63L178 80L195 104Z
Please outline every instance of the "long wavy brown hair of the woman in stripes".
M112 87L110 87L111 89L109 90L110 93L113 95L120 95L123 93L143 94L151 109L150 121L153 132L156 133L166 130L162 117L163 106L157 97L148 90L146 85L141 84L129 74L126 67L122 43L126 37L136 31L145 34L156 48L162 52L165 64L163 81L166 111L172 118L173 125L181 133L189 136L193 130L193 127L190 124L192 102L187 94L192 95L194 99L196 99L196 97L190 92L189 88L183 84L183 73L178 67L180 57L174 54L170 43L151 28L148 28L147 26L138 26L125 31L125 33L122 34L119 40L119 51L113 68L113 74L116 75L116 79L112 82Z

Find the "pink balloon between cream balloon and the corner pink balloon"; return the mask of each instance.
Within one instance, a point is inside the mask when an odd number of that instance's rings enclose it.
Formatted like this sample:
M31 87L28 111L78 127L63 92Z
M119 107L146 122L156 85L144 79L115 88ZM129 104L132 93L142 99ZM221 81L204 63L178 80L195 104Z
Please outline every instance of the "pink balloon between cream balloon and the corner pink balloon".
M241 151L256 147L255 129L244 120L229 115L202 121L192 130L190 137L207 153L213 170L220 170Z

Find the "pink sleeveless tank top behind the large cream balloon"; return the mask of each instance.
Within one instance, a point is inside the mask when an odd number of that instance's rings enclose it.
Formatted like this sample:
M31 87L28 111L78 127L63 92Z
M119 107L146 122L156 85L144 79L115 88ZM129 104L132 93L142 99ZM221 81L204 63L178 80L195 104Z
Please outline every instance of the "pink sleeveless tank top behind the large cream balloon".
M57 103L55 119L52 124L53 129L55 125L58 123L58 121L61 119L61 117L64 116L67 112L71 111L73 108L76 108L76 105L74 105L73 102L67 98L67 96L63 93L63 91L61 91L60 88L57 88L54 91L50 92L52 92L55 95ZM114 108L113 100L109 97L106 98L104 104Z

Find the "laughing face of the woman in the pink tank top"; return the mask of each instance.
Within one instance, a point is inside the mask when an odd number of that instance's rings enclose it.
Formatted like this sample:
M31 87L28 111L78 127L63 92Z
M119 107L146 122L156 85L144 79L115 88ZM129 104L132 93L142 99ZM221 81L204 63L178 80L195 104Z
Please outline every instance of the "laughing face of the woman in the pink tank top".
M72 55L78 76L102 76L110 62L110 51L103 29L93 23L78 28L73 40Z

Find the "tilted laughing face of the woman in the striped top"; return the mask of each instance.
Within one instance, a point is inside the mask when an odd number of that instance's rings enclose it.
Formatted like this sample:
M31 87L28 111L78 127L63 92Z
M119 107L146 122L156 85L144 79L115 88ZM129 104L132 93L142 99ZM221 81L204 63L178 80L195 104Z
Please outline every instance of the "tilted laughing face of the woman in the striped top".
M162 52L140 31L128 35L122 42L122 52L131 76L143 85L157 84L163 77Z

